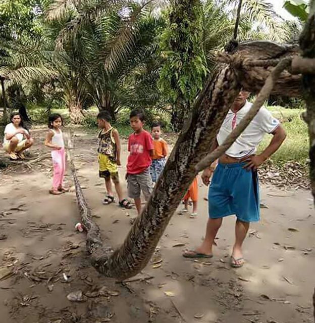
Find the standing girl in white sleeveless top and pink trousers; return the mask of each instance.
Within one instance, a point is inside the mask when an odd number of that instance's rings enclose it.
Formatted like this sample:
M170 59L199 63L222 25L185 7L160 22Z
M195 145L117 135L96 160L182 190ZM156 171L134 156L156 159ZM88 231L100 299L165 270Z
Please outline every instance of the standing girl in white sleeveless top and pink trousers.
M46 134L45 146L51 148L51 158L53 159L54 175L53 188L50 194L59 195L68 192L63 186L66 171L66 152L64 137L61 131L63 125L62 116L58 113L51 114L48 118L48 132Z

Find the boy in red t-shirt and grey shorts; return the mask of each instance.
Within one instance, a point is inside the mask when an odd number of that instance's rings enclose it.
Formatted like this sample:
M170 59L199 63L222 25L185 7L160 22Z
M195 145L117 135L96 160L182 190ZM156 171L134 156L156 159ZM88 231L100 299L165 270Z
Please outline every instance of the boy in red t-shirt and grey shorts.
M141 191L146 201L152 193L149 167L154 147L150 133L143 129L144 113L141 110L133 110L129 118L134 133L128 139L130 154L127 161L127 188L129 197L135 201L139 215L141 213Z

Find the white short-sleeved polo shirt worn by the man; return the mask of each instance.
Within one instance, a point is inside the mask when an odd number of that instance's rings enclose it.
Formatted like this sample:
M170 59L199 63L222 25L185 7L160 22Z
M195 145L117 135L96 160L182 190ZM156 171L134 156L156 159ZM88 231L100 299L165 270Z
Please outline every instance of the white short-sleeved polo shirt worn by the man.
M252 104L246 101L245 105L238 112L234 113L229 110L217 135L219 145L223 144L226 137L247 114L251 106ZM260 108L247 128L226 151L226 154L234 158L241 158L254 154L257 146L263 140L264 135L266 133L272 133L279 124L279 120L274 118L266 108Z

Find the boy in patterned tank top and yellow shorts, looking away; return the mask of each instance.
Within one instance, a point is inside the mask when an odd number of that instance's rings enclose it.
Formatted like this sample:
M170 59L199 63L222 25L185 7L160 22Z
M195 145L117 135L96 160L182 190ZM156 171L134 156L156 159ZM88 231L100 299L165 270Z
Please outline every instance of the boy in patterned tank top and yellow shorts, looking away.
M120 162L120 138L117 129L110 123L111 117L107 111L101 111L97 115L97 124L101 129L98 132L98 165L99 177L105 179L107 195L103 204L108 205L115 201L112 180L119 198L119 206L130 209L131 203L123 197L122 187L119 181L118 166Z

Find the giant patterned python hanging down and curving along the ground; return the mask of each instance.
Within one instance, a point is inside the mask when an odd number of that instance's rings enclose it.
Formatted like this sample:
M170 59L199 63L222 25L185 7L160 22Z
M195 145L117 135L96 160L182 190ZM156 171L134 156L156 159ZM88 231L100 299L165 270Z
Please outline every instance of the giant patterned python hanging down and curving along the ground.
M208 79L149 202L136 218L123 245L114 252L109 247L102 248L99 228L90 217L75 168L72 167L82 222L88 231L86 245L96 270L106 276L124 280L145 267L196 176L195 165L209 152L239 89L234 70L227 66L220 65Z

